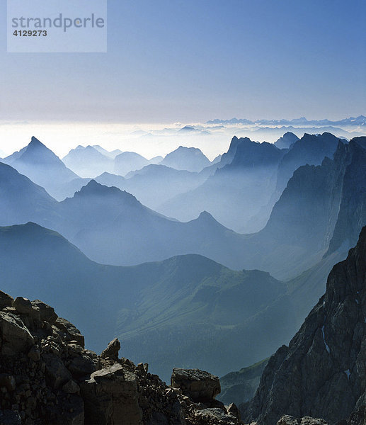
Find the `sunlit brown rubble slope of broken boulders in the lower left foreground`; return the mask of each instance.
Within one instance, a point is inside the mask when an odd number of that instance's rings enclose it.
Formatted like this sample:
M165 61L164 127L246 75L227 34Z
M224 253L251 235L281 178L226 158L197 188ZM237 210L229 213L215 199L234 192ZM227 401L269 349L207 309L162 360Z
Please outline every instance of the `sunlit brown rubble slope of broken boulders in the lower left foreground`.
M98 356L49 305L0 291L0 424L242 424L234 404L215 400L217 377L179 369L173 382L191 381L183 393L119 349L113 339Z

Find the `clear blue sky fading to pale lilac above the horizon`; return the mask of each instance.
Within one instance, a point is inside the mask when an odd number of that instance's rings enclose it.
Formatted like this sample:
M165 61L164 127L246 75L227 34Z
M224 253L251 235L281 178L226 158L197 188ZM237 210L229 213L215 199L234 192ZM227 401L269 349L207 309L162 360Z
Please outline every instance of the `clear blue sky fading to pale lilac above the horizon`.
M6 53L1 119L198 122L366 112L365 0L108 0L108 53Z

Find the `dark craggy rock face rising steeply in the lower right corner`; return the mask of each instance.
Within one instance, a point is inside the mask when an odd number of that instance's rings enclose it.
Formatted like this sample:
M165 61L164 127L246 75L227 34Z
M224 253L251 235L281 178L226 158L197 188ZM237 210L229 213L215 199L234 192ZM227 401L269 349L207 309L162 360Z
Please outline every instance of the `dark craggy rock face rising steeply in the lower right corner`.
M365 407L365 348L366 227L348 258L333 267L325 295L290 345L270 358L255 397L241 406L244 419L273 425L290 414L346 421Z

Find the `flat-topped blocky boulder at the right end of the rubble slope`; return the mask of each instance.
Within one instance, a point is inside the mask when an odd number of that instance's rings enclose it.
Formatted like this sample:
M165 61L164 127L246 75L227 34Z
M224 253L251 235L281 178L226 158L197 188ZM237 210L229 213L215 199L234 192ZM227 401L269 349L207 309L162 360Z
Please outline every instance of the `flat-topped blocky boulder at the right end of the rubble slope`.
M171 386L180 388L194 402L210 402L221 391L219 378L200 369L173 369Z

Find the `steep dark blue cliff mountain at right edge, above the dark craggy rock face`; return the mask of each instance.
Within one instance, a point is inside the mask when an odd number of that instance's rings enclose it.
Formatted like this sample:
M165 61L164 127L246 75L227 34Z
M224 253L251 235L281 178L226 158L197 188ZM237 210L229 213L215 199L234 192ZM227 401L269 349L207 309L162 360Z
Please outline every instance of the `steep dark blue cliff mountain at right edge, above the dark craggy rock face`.
M245 268L250 264L278 278L293 277L319 262L328 246L330 252L344 254L350 249L365 224L362 140L351 140L348 145L338 142L333 160L326 158L320 166L305 165L294 172L265 228L248 237ZM348 236L342 233L344 215L354 217ZM287 261L287 276L278 269L282 261Z

